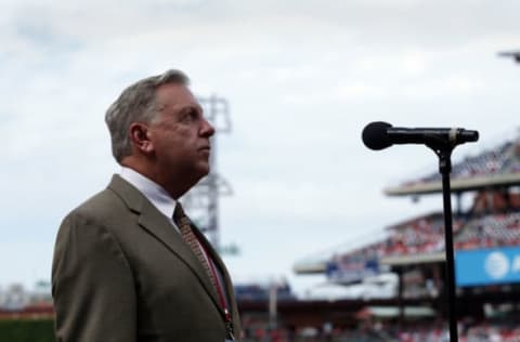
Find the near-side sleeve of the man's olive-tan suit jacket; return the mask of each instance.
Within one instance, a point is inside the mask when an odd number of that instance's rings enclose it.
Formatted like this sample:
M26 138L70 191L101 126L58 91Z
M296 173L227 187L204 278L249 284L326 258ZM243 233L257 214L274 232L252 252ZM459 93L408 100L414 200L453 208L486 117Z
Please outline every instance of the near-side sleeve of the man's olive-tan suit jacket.
M52 264L57 342L136 341L132 272L116 238L79 214L62 223Z

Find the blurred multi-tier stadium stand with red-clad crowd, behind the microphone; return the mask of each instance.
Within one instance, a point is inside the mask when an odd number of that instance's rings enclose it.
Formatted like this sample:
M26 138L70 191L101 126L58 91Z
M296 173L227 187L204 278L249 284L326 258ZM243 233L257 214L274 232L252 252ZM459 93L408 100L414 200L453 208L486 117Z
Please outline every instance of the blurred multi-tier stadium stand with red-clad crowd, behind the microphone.
M508 247L512 249L507 250L517 250L515 248L520 246L520 139L506 141L454 163L451 179L454 194L473 196L470 208L457 210L454 216L454 248L468 253L505 250ZM441 190L441 175L433 172L385 192L390 196L420 196ZM400 274L403 288L400 299L386 305L416 300L429 303L439 314L443 313L446 307L443 297L443 213L433 212L406 220L387 227L386 232L379 240L332 252L328 261L324 261L323 255L320 263L312 264L310 261L312 272L316 273L322 267L323 273L333 269L359 275L363 274L360 269L374 263L389 265L391 271ZM299 264L298 269L311 267ZM330 281L341 279L349 277L329 277ZM520 341L520 305L517 304L520 286L515 282L517 280L509 281L514 282L458 288L459 341ZM486 305L508 305L511 310L491 315L486 313ZM442 314L438 317L434 321L358 317L358 326L334 329L333 339L327 341L448 341L446 317ZM351 337L355 337L354 340Z

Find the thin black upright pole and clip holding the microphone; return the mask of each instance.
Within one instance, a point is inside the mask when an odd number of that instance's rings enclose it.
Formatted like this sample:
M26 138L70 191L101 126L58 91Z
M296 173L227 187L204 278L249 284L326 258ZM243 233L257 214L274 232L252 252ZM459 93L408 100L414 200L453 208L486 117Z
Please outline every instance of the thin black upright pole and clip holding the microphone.
M447 284L447 303L446 312L450 324L450 341L458 342L457 331L457 310L456 310L456 286L455 286L455 267L454 267L454 249L453 249L453 214L452 214L452 198L450 187L450 173L452 172L451 156L453 148L446 142L430 142L426 144L433 149L439 157L439 172L442 174L442 197L444 205L444 241L446 251L446 268L445 277Z

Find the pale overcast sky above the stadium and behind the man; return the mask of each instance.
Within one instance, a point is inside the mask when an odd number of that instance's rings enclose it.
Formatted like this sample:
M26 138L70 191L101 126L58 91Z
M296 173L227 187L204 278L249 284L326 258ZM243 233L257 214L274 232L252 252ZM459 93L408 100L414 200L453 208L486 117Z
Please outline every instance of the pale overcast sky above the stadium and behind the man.
M107 4L108 3L108 4ZM437 170L422 146L375 153L375 120L480 132L454 160L519 127L520 2L0 0L0 286L49 279L63 216L104 188L104 113L169 68L231 106L218 136L222 244L235 279L286 276L296 261L441 210L382 188Z

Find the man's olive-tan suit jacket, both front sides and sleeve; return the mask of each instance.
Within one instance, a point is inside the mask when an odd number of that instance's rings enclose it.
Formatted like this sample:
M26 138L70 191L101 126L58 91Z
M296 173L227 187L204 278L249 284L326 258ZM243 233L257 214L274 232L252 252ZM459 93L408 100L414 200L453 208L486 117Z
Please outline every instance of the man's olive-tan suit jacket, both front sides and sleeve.
M238 311L219 255L235 337ZM56 338L66 342L223 342L224 313L200 262L135 187L108 187L63 221L54 250Z

